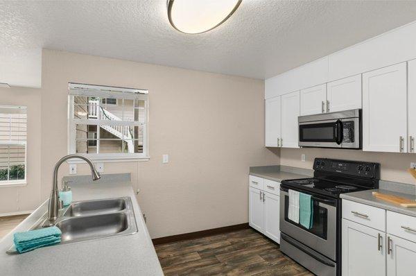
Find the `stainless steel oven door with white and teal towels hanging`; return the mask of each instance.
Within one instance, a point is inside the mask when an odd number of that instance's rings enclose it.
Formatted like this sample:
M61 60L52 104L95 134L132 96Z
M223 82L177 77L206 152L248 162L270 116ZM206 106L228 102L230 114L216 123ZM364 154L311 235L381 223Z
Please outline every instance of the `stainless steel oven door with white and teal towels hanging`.
M304 192L304 191L302 191ZM305 192L306 193L306 192ZM307 192L309 193L309 192ZM336 206L335 198L309 193L313 199L313 226L306 229L288 219L288 189L280 192L280 231L304 245L336 261Z

